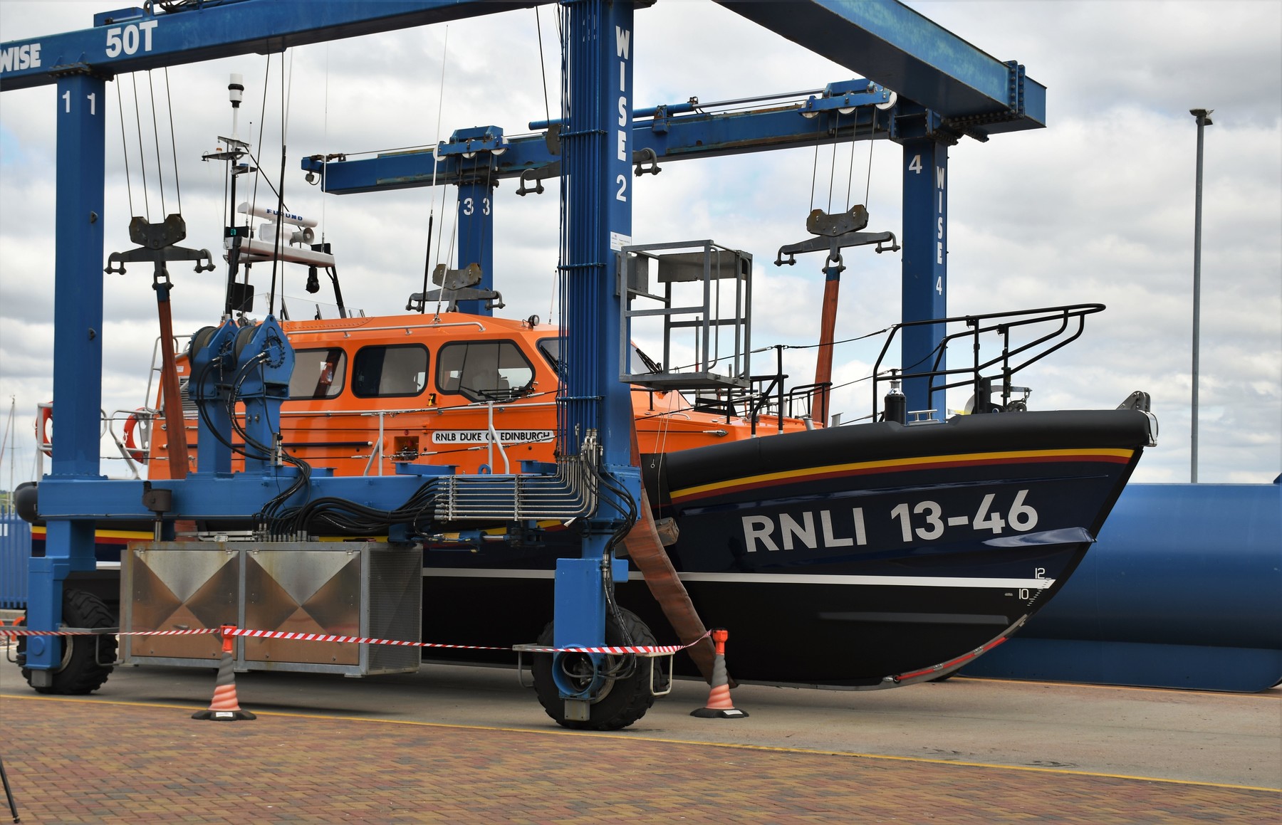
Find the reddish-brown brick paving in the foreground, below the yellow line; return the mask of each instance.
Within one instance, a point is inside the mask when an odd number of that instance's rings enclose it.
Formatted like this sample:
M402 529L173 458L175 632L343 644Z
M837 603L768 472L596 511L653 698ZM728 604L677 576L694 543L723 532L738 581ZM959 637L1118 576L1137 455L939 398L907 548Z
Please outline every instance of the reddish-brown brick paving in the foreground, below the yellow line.
M22 821L1282 821L1270 790L559 729L205 723L192 710L0 697Z

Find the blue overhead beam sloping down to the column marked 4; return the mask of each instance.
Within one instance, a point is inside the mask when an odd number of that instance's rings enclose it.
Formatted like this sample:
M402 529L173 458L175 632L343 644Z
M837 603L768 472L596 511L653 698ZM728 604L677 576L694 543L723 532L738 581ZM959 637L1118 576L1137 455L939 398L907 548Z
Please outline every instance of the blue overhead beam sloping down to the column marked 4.
M896 0L717 0L792 42L985 132L1046 126L1046 87Z

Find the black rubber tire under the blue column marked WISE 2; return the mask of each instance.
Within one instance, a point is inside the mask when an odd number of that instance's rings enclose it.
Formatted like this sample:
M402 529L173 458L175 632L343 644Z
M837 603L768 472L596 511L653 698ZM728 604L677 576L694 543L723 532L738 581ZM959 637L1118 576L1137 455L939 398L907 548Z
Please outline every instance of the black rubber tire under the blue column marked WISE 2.
M606 644L656 644L654 634L650 633L650 628L647 628L636 614L623 609L619 609L619 614L623 617L623 623L627 625L627 638L629 638L631 642L624 642L624 634L619 628L619 623L615 621L612 614L606 614ZM551 623L549 623L547 626L544 628L544 632L538 635L538 644L551 647ZM617 660L623 658L628 657L617 657ZM645 716L645 712L650 710L651 705L654 705L654 694L650 692L650 664L654 661L655 666L658 666L660 661L644 657L632 657L632 660L631 673L627 676L614 679L613 683L606 684L603 694L591 705L587 721L574 721L565 719L565 701L560 698L560 692L556 689L556 683L553 680L553 655L536 653L532 669L535 676L535 692L538 694L538 703L542 705L544 710L547 711L547 715L556 720L556 724L563 728L573 728L576 730L619 730L620 728L627 728L636 720ZM663 679L659 678L660 675ZM667 673L663 671L662 667L659 674L655 676L655 687L660 690L667 687Z

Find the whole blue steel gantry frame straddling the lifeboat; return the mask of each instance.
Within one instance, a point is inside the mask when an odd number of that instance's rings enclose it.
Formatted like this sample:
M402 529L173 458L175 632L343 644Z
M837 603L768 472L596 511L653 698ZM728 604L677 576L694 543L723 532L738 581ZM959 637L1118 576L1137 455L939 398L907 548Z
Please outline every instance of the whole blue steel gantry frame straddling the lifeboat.
M295 3L290 0L188 0L154 3L97 14L90 28L0 44L0 90L54 85L58 118L54 396L58 441L50 474L40 487L40 515L47 523L46 555L33 559L28 621L54 629L63 621L63 582L94 566L94 529L99 520L154 518L171 525L177 518L229 518L259 512L278 492L281 478L299 480L300 470L250 462L244 473L227 471L227 456L213 430L227 421L201 423L200 471L183 479L108 480L99 466L101 400L103 225L105 85L115 76L165 65L249 53L277 53L290 46L369 35L410 26L482 15L537 3L477 0L401 0ZM549 177L562 179L560 268L567 345L565 392L560 432L565 442L594 462L617 500L635 496L638 471L632 464L632 412L628 388L618 380L619 297L612 288L615 252L632 238L633 164L813 145L832 140L838 118L868 138L891 138L903 147L903 316L928 320L946 315L947 296L947 149L964 136L991 135L1045 124L1045 88L1017 63L1004 63L932 23L895 0L840 3L723 3L733 12L779 32L867 77L829 85L800 110L705 113L690 104L638 110L633 100L633 13L629 0L564 0L564 83L574 105L560 122L544 124L554 136L505 141L496 127L456 132L445 146L440 172L463 179L460 199L490 197L490 183L522 178L523 186ZM631 114L629 114L631 113ZM854 114L851 114L854 113ZM549 140L555 137L555 140ZM495 150L503 149L500 156ZM468 164L483 159L486 176L467 177ZM305 168L324 177L329 192L360 192L431 182L429 152L370 160L309 160ZM492 202L492 199L491 199ZM462 259L482 263L490 277L492 209L464 213ZM159 272L159 269L158 269ZM482 284L490 286L490 284ZM477 302L465 306L485 311ZM204 343L224 346L238 336L223 328ZM905 364L923 360L938 345L935 325L905 331ZM287 380L288 345L272 337L267 323L254 339L236 342L236 357L263 359L276 370L258 389L262 420L278 411L278 386ZM199 355L199 354L197 354ZM195 356L194 356L195 357ZM242 369L237 360L226 369ZM277 384L272 384L274 380ZM938 405L927 397L926 379L905 387L909 409ZM209 392L219 392L210 386ZM260 428L259 443L271 427ZM205 460L205 456L209 460ZM595 471L595 470L594 470ZM271 489L265 480L272 477ZM515 484L499 477L479 484ZM537 483L538 479L536 479ZM544 479L555 486L553 478ZM458 479L460 488L468 479ZM340 497L387 511L422 484L419 475L333 478L304 477L296 496ZM556 570L555 643L599 644L605 629L603 578L610 568L610 541L623 516L597 501L585 512L578 559L563 559ZM395 533L394 533L395 535ZM404 533L403 533L404 535ZM32 684L50 688L58 646L35 637L26 666ZM562 685L570 705L586 706L599 680L574 693Z

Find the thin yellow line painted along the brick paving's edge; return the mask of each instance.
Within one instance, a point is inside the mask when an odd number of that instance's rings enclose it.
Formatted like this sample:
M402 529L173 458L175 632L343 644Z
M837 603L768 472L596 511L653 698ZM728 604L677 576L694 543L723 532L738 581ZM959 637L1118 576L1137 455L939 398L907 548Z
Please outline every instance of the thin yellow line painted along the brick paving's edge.
M196 710L204 710L203 707L192 705L163 705L153 702L123 702L118 699L77 699L69 697L50 697L50 696L22 696L22 694L0 694L3 698L12 699L24 699L29 702L79 702L83 705L123 705L126 707L167 707L181 711L190 711L192 707ZM246 708L253 710L253 708ZM1063 767L1036 767L1032 765L997 765L994 762L965 762L960 760L933 760L920 756L888 756L885 753L855 753L851 751L823 751L819 748L785 748L773 744L744 744L738 742L699 742L695 739L667 739L662 737L646 737L637 735L636 733L599 733L592 730L568 730L568 729L555 729L550 730L546 728L506 728L500 725L460 725L456 723L428 723L428 721L415 721L412 719L376 719L370 716L332 716L327 714L288 714L283 711L254 711L258 716L279 716L283 719L323 719L327 721L359 721L359 723L376 723L387 725L413 725L418 728L449 728L454 730L491 730L496 733L533 733L544 734L551 737L591 737L600 739L618 739L623 742L653 742L656 744L690 744L690 746L704 746L715 748L735 748L738 751L763 751L768 753L809 753L813 756L842 756L847 758L862 758L862 760L886 760L892 762L920 762L924 765L955 765L962 767L990 767L995 770L1009 770L1009 771L1024 771L1031 774L1055 774L1055 775L1068 775L1068 776L1095 776L1100 779L1126 779L1133 781L1160 781L1169 785L1194 785L1199 788L1227 788L1231 790L1264 790L1269 793L1282 793L1282 788L1260 788L1258 785L1233 785L1228 783L1218 781L1201 781L1197 779L1167 779L1164 776L1133 776L1129 774L1103 774L1096 771L1076 771L1067 770Z

